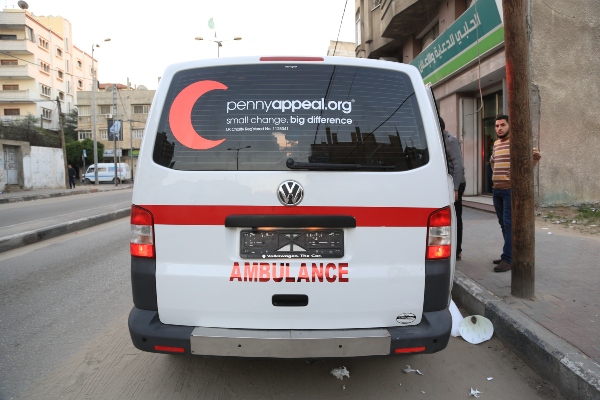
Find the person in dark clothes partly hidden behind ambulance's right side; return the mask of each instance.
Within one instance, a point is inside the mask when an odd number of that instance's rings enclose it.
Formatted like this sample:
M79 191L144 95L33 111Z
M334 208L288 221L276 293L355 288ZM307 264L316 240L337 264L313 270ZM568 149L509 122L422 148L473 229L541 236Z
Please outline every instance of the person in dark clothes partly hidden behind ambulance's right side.
M456 211L456 259L462 257L462 195L467 186L465 180L465 166L460 150L460 143L457 138L452 136L446 130L446 123L440 117L440 127L444 132L444 142L446 144L446 161L448 163L448 173L454 180L454 210Z

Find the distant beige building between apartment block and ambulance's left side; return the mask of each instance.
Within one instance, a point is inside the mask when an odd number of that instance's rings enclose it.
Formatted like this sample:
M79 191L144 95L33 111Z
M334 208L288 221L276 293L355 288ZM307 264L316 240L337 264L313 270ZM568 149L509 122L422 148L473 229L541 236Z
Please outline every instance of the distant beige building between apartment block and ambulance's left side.
M116 154L118 161L129 164L135 173L148 112L156 91L141 85L132 89L118 84L114 93L112 84L99 86L96 92L96 140L104 144L104 159L98 162L113 162ZM79 140L93 140L92 92L80 92L76 106L79 111ZM109 140L109 125L115 120L122 122L123 140L120 141Z

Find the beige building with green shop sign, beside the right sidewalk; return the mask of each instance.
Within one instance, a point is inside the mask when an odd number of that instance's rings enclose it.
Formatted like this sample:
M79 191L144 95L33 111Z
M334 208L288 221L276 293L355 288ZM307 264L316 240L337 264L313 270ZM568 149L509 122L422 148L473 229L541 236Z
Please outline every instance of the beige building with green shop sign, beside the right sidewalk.
M538 203L600 202L600 2L526 0ZM491 193L494 118L508 112L501 0L355 0L356 56L410 63L462 143L465 195Z

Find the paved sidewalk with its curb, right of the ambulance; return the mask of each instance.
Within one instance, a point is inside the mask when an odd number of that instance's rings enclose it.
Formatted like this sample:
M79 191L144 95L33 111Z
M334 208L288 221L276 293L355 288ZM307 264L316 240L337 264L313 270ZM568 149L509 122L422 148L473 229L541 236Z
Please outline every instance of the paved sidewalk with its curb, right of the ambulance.
M535 297L520 299L511 295L511 273L493 271L503 243L491 197L467 197L463 205L455 302L489 318L495 334L565 398L600 399L600 237L538 223Z

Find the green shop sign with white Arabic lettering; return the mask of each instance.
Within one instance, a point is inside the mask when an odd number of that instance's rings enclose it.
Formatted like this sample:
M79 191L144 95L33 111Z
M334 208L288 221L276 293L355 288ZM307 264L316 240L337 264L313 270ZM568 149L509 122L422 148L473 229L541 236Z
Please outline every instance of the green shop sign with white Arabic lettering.
M435 84L504 42L501 0L477 0L411 62Z

